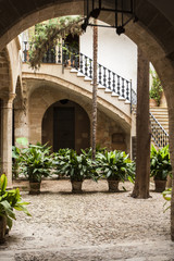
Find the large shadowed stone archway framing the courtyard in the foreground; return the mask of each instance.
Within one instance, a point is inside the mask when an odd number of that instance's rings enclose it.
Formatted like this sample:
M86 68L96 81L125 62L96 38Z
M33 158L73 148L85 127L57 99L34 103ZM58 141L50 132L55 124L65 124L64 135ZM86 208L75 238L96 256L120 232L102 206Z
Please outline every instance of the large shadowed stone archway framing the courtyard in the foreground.
M170 11L174 7L172 1L170 1L170 4L165 4L166 7L163 10L161 2L152 0L137 1L136 11L139 22L138 24L129 23L126 26L126 35L140 47L152 62L164 86L164 94L169 105L171 161L174 170L174 21L170 15L172 13ZM109 7L114 1L105 1L104 3L105 7ZM23 4L25 4L25 1ZM11 1L7 3L3 0L1 2L3 14L1 15L2 26L0 30L1 49L20 32L37 22L59 15L83 13L83 1L34 0L28 5L23 4L18 2L18 5L14 8ZM103 22L109 24L112 24L113 18L112 14L101 17ZM172 214L174 216L174 200L172 201ZM174 221L172 226L174 239Z

